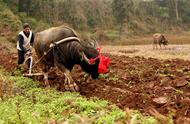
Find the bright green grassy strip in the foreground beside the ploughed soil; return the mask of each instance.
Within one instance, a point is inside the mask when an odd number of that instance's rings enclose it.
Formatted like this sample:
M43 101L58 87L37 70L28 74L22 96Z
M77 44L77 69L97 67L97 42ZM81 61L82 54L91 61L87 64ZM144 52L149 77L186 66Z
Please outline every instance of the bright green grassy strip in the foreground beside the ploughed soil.
M123 111L104 100L41 88L39 82L10 76L2 70L0 74L6 82L11 82L11 94L0 100L0 124L159 124L153 116Z

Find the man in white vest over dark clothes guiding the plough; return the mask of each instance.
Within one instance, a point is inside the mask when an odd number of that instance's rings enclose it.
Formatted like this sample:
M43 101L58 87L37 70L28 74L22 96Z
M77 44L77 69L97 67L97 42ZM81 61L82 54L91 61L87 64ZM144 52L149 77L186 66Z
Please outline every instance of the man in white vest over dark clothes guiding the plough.
M30 25L25 23L23 25L23 30L18 34L18 67L21 67L21 64L27 62L28 68L31 64L31 46L34 42L34 34L30 30Z

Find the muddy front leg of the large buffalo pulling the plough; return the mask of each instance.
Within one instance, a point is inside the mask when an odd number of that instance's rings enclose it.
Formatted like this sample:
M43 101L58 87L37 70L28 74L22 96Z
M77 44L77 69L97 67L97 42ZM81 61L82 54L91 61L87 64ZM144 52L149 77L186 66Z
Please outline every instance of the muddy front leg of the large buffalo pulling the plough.
M65 68L62 64L58 63L57 61L55 62L55 66L60 69L64 75L65 75L65 89L68 91L79 91L79 87L77 84L74 82L73 78L71 77L70 71Z

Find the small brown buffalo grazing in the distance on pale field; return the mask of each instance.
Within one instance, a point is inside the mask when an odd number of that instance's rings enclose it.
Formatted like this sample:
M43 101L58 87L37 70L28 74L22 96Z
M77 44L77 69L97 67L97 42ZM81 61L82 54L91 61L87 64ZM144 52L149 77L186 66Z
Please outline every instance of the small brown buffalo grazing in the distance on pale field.
M160 48L161 48L161 45L163 45L164 48L166 49L166 45L168 45L168 41L163 34L160 34L160 33L153 34L153 49L155 48L157 49L157 44L159 44Z

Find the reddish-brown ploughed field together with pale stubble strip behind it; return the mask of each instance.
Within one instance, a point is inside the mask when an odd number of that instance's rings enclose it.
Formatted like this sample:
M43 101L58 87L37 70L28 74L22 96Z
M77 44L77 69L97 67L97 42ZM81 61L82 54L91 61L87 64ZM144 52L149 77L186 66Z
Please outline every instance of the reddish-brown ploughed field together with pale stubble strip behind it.
M3 51L9 50L1 47L0 65L12 72L16 53ZM102 46L102 52L111 59L108 74L92 80L78 66L72 71L81 95L107 100L124 111L139 110L158 120L190 123L190 45L158 50L151 45ZM51 87L64 91L64 76L55 69L49 75ZM42 77L33 79L43 82Z

